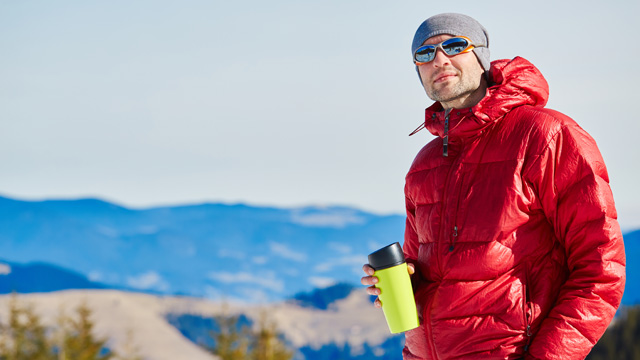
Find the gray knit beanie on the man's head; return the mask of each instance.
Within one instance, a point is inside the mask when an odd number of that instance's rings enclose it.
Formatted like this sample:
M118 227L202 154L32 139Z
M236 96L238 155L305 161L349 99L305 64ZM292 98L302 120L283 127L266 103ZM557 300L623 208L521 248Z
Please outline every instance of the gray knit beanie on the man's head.
M428 38L440 34L449 34L454 36L466 36L476 45L484 45L485 47L473 48L480 65L489 71L491 68L491 60L489 59L489 33L484 26L480 25L474 18L454 13L445 13L434 15L425 20L413 37L411 45L411 56L416 52Z

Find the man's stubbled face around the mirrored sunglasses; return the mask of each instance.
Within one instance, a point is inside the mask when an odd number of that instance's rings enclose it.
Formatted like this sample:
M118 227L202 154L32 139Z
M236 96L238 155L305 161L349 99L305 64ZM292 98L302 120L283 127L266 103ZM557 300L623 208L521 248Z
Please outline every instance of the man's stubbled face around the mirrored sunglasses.
M436 45L453 36L443 34L430 37L423 45ZM418 66L422 86L427 95L443 106L456 107L463 103L474 91L478 90L484 69L472 51L452 57L442 50L436 51L433 61Z

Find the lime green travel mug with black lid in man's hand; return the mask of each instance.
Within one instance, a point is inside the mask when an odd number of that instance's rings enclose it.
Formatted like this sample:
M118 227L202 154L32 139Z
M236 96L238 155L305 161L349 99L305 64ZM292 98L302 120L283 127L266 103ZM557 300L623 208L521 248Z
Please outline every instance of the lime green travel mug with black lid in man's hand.
M369 254L369 265L378 278L378 298L387 319L389 331L397 334L420 325L411 278L400 243L394 243Z

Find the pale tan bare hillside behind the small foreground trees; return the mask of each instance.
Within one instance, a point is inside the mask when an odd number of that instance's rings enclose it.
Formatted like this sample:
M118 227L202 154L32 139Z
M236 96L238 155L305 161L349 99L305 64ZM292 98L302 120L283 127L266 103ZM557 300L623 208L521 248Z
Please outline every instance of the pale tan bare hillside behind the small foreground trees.
M243 313L258 319L267 314L295 348L321 349L347 345L353 353L364 347L382 345L389 337L382 311L375 309L362 289L336 301L328 310L302 308L291 303L238 306L187 297L158 297L115 290L70 290L46 294L17 295L30 303L45 323L55 322L60 309L71 312L81 302L93 309L96 333L110 339L118 351L133 334L133 343L148 360L210 360L213 357L171 326L171 314L211 317L222 313ZM0 317L6 318L10 295L0 296Z

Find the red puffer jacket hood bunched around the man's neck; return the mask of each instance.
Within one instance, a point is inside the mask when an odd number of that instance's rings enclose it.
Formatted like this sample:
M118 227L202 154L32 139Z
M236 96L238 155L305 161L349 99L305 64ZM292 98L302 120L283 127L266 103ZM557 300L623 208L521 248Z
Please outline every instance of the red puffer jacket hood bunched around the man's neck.
M540 71L524 58L496 60L489 71L490 86L475 106L453 109L449 119L449 138L468 138L501 119L511 109L531 105L544 107L549 99L549 85ZM439 102L425 111L425 127L444 137L444 109Z

